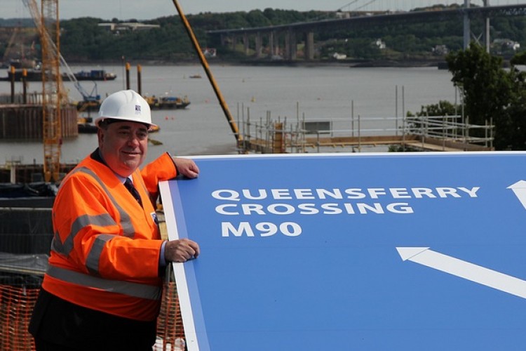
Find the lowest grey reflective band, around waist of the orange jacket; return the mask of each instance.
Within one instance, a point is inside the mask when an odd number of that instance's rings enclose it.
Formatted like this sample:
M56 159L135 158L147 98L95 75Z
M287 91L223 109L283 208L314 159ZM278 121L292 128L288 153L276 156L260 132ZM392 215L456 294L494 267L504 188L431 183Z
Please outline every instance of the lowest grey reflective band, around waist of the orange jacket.
M102 279L88 274L73 272L72 270L65 270L53 265L48 267L46 274L55 279L60 279L63 282L100 289L109 293L121 293L123 295L133 296L134 298L159 300L162 293L159 286L124 282L121 280Z

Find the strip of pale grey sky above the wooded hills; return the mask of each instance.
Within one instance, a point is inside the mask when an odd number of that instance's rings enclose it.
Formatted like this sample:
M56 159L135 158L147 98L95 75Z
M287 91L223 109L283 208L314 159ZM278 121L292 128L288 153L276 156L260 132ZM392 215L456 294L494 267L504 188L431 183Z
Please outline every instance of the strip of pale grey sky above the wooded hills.
M36 0L40 4L40 0ZM349 4L367 4L363 10L409 10L432 4L458 4L464 0L177 0L185 15L202 12L224 13L275 8L295 11L336 11L353 10ZM29 18L31 15L22 0L0 0L0 18ZM490 0L490 4L516 4L515 0ZM522 3L522 1L520 1ZM482 4L472 0L471 4ZM375 8L376 6L376 8ZM402 7L402 8L400 8ZM151 20L168 15L177 15L173 0L59 0L61 20L80 17L94 17L103 20Z

